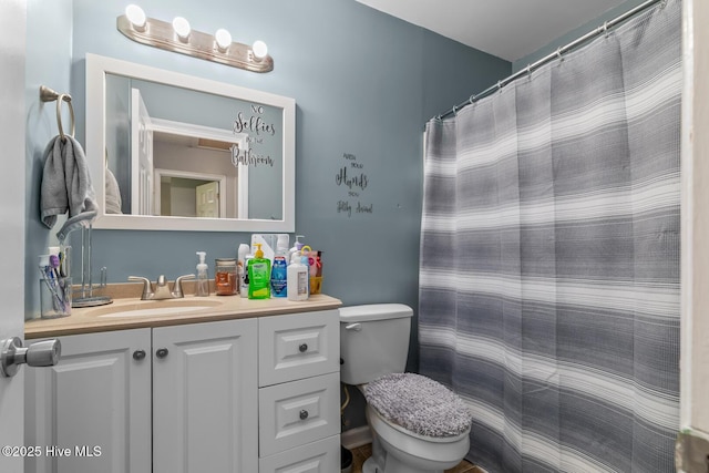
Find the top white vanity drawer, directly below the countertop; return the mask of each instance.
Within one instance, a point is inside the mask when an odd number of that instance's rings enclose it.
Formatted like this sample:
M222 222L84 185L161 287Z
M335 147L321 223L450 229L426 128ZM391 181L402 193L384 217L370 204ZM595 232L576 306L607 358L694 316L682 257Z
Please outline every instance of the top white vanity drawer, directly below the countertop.
M258 319L258 385L340 371L340 319L320 310Z

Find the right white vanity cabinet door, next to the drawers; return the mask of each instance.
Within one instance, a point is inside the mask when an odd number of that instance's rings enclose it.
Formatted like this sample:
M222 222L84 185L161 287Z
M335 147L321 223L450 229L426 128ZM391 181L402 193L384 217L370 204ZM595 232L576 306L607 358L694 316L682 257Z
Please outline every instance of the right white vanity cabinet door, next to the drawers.
M258 469L257 321L153 329L153 471Z

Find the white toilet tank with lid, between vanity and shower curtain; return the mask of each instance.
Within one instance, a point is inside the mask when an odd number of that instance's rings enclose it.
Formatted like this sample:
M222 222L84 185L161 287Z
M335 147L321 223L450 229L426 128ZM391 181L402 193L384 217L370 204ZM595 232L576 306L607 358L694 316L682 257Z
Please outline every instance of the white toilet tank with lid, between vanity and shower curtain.
M413 309L403 304L373 304L340 309L340 381L363 384L402 373L409 354Z

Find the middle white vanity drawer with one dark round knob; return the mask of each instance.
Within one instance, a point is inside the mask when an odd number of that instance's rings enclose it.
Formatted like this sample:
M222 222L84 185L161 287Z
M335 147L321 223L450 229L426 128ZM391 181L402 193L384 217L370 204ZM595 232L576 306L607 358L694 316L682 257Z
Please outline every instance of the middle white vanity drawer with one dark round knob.
M268 456L340 432L340 373L258 391L259 456Z

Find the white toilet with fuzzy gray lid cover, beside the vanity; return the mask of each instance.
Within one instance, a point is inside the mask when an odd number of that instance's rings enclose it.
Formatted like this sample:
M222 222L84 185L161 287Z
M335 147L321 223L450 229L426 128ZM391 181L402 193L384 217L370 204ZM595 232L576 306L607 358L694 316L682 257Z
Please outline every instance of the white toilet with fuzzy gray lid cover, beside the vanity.
M413 310L401 304L340 309L340 381L367 399L372 456L363 473L443 473L470 448L472 417L443 384L404 373Z

